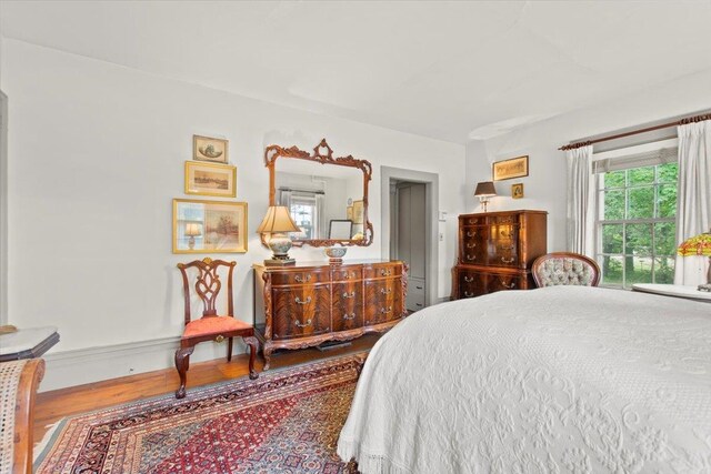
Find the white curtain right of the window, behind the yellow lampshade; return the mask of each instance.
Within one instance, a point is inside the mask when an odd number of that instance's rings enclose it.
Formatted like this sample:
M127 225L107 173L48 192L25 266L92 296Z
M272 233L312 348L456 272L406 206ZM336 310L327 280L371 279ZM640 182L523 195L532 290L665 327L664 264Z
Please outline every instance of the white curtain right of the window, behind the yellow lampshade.
M711 229L711 120L678 128L677 244ZM674 284L705 283L705 256L677 255Z

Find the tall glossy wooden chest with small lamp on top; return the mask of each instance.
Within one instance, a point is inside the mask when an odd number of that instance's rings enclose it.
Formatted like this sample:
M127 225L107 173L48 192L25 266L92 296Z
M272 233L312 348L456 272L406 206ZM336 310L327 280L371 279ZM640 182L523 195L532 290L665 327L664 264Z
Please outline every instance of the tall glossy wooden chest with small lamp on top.
M547 214L523 210L460 215L452 300L535 288L531 264L547 252Z

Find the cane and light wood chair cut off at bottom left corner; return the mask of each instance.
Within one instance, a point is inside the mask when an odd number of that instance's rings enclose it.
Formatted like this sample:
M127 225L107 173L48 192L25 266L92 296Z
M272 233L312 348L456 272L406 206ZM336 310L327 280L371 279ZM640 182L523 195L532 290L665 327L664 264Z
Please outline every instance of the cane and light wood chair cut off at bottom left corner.
M32 473L34 396L44 361L0 362L0 474Z

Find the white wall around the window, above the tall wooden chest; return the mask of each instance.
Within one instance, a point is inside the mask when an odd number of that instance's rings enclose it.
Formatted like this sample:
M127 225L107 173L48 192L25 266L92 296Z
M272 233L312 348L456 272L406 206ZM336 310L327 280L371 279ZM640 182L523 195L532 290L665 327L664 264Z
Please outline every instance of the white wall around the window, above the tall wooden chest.
M467 145L467 182L491 179L491 163L508 158L529 155L529 177L499 181L489 205L490 211L542 209L548 216L548 250L565 250L565 153L558 148L598 134L637 128L650 122L669 121L679 115L693 115L711 108L711 71L687 75L664 85L647 87L643 91L615 98L573 113L547 120L537 125L487 141ZM641 84L644 85L644 84ZM655 134L659 139L661 135ZM605 143L605 148L610 148ZM524 184L524 199L511 199L511 184ZM468 208L479 209L469 190Z

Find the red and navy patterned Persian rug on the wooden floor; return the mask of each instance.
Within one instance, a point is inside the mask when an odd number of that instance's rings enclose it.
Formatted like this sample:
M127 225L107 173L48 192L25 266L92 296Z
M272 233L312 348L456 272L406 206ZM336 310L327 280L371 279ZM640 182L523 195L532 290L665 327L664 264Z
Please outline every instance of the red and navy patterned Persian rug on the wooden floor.
M36 473L356 473L336 444L367 353L66 418Z

